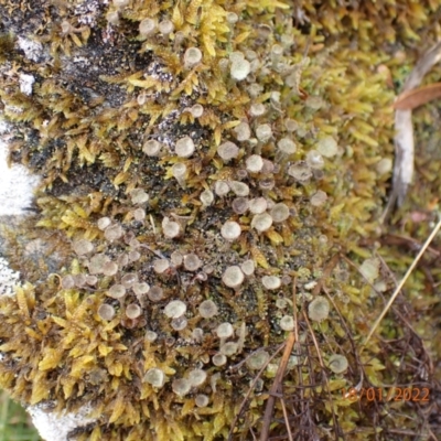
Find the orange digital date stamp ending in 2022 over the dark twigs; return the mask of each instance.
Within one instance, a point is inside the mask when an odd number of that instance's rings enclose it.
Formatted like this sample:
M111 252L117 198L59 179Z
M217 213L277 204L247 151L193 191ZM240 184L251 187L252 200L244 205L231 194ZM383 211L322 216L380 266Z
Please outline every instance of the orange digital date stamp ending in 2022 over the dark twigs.
M357 390L355 387L343 388L342 396L351 401L413 401L429 402L430 389L428 387L362 387Z

